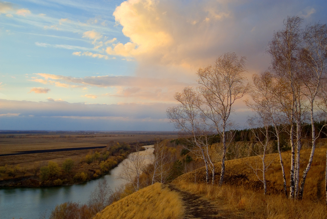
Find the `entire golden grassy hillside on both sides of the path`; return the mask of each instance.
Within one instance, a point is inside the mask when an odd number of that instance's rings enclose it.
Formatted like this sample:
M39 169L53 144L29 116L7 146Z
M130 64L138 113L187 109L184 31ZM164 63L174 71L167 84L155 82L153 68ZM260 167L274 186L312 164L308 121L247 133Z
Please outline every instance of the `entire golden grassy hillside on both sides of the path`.
M301 150L301 175L309 155L310 149L304 147ZM284 152L282 156L289 186L291 152ZM190 206L191 202L187 201L192 199L192 195L202 197L198 199L198 203L208 201L213 206L214 211L217 212L213 218L327 218L327 207L324 204L325 146L316 149L307 175L302 201L285 198L278 154L268 154L266 161L268 163L272 161L266 173L267 195L263 194L263 184L250 168L256 165L260 168L261 160L257 156L252 156L226 161L225 184L221 187L217 184L205 183L205 168L201 167L179 176L172 182L180 192L174 193L168 189L167 185L156 183L113 203L98 213L95 219L182 218L188 209L198 207ZM217 162L215 167L216 183L218 183L220 163ZM188 193L189 199L184 195L182 202L181 191L192 194Z

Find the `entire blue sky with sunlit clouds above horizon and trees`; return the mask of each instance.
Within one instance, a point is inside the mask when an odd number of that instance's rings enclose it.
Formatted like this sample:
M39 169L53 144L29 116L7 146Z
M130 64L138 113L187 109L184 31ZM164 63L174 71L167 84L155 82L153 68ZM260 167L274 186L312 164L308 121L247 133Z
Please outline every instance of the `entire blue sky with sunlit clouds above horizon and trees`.
M0 130L172 131L174 94L226 52L246 77L287 16L327 23L324 0L0 0ZM235 102L232 118L251 114Z

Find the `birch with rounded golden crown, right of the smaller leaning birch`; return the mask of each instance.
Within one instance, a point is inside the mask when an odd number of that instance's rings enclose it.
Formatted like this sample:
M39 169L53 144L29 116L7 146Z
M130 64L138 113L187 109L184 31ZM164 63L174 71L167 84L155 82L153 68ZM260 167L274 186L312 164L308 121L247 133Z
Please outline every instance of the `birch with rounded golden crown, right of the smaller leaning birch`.
M205 106L201 111L211 121L208 124L217 131L223 144L219 185L222 185L225 175L226 131L231 125L232 105L249 89L244 77L245 60L245 57L238 58L235 53L225 53L216 59L214 66L198 70L199 91Z

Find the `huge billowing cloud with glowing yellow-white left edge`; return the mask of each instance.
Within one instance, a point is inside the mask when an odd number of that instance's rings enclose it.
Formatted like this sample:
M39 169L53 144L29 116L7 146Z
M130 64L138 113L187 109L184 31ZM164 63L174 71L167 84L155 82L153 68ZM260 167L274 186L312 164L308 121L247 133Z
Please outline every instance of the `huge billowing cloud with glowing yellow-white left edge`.
M263 57L274 30L287 15L308 18L310 3L262 0L128 0L113 15L128 43L108 46L109 55L184 67L212 64L224 52L247 56L250 69L267 68Z

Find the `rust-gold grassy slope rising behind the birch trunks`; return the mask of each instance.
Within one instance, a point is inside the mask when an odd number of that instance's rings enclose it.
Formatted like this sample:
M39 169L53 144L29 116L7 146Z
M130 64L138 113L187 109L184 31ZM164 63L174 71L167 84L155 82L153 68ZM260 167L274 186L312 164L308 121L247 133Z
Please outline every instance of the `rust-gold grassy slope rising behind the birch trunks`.
M325 146L324 146L325 147ZM304 168L307 165L310 149L302 149L301 150L301 165L300 165L300 180L303 173ZM283 152L282 153L285 174L286 174L286 185L289 187L289 171L290 171L290 159L291 152ZM226 172L225 172L225 183L241 186L247 189L252 189L254 191L263 192L263 184L258 180L257 176L254 174L253 170L250 169L249 165L255 166L257 164L259 167L262 167L260 163L261 160L258 157L245 157L240 159L228 160L225 162L226 164ZM267 179L267 193L268 194L279 194L283 191L283 177L281 166L279 163L278 154L268 154L267 161L273 160L271 163L270 169L266 173ZM216 163L216 183L219 181L220 176L220 163ZM325 167L326 167L326 148L317 148L315 151L314 159L310 171L307 175L303 199L311 199L311 200L324 200L325 199ZM205 181L205 169L204 167L199 168L196 172L197 182ZM211 174L211 173L210 173ZM195 171L190 173L183 174L179 177L180 180L185 180L187 182L194 182L195 179ZM289 188L288 188L289 190Z

